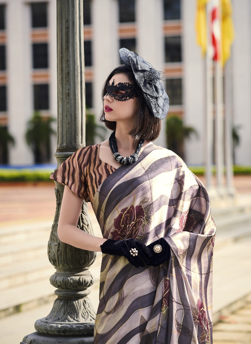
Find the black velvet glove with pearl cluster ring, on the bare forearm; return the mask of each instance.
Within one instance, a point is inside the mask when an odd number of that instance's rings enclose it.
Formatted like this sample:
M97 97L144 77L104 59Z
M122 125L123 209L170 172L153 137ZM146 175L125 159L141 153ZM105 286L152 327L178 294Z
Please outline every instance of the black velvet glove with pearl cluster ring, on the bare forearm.
M133 238L122 240L107 239L100 248L102 253L108 253L112 256L126 257L132 265L136 266L136 268L139 266L145 266L141 258L143 258L146 264L149 265L150 257L153 255L146 245ZM136 249L137 252L133 252L134 249Z

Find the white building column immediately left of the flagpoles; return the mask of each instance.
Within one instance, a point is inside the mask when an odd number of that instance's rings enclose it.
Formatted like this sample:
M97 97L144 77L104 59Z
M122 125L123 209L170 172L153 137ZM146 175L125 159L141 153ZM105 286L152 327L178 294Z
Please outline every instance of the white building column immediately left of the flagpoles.
M196 44L195 13L196 0L181 1L183 23L182 58L184 61L183 102L185 125L196 129L199 139L194 135L186 140L185 155L188 165L205 163L205 112L206 80L204 58L201 48Z

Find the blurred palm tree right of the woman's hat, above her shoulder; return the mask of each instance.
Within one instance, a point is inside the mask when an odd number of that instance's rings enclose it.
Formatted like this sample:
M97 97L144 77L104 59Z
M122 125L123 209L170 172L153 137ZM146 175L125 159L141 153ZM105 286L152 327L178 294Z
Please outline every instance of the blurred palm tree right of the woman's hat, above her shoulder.
M184 160L184 141L194 134L198 137L197 131L187 127L181 118L176 115L169 116L166 120L166 143L167 148L174 151Z

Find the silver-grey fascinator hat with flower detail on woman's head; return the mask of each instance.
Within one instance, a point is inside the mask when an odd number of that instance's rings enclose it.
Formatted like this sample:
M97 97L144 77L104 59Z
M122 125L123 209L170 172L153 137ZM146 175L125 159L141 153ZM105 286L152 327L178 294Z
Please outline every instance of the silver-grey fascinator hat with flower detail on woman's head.
M147 105L154 117L164 119L169 109L169 98L160 80L161 72L134 51L119 49L122 62L132 69L138 86L142 89Z

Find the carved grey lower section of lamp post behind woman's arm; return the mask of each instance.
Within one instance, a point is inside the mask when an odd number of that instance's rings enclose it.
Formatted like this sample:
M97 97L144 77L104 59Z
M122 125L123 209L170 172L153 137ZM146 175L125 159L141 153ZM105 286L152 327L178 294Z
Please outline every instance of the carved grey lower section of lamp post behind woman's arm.
M56 184L56 214L48 243L48 256L56 272L51 284L57 288L57 299L49 315L35 322L38 332L23 338L21 344L93 344L95 311L87 297L88 289L94 283L88 267L93 263L96 252L84 251L62 243L57 236L57 223L64 186ZM93 234L87 204L83 202L77 225L83 231Z

